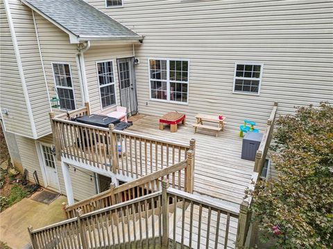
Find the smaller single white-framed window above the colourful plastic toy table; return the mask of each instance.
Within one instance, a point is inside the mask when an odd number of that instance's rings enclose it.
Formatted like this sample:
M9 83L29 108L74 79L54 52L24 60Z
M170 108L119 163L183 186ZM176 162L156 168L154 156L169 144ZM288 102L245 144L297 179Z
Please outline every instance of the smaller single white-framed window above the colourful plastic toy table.
M234 93L259 95L263 64L236 63L234 66Z

